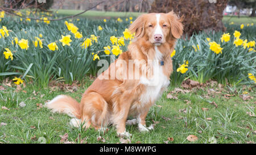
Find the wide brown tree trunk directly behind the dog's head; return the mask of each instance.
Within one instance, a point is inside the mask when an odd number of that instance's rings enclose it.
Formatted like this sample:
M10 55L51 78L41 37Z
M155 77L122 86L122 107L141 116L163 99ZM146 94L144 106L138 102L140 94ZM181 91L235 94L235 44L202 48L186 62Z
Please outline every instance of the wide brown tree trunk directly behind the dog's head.
M225 31L223 11L228 0L209 3L208 0L155 0L149 12L174 12L183 16L184 33L191 36L199 31Z

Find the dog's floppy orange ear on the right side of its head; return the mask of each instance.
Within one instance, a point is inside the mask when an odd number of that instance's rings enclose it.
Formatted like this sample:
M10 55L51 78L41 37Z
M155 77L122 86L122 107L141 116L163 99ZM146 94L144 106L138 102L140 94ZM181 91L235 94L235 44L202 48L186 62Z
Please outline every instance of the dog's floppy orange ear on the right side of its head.
M168 12L169 21L171 24L171 35L176 39L180 38L183 34L183 16L178 18L174 11Z

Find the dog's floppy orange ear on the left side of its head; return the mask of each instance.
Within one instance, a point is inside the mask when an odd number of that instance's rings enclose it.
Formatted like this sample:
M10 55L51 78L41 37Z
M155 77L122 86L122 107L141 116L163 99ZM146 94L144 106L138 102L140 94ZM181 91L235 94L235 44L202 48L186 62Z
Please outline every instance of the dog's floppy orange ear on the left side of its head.
M145 18L144 15L138 16L136 20L130 25L129 31L135 33L135 37L140 38L144 36L145 33Z

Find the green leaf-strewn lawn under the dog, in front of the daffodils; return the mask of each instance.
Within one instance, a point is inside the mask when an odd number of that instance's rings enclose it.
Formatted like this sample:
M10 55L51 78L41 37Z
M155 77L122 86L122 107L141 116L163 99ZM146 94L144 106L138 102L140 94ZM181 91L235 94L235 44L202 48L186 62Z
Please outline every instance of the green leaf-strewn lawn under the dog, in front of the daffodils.
M80 143L84 139L87 143L103 143L97 141L97 136L102 136L105 143L120 143L116 136L115 128L109 127L109 131L103 135L94 129L81 129L68 125L69 116L64 114L52 114L47 108L38 108L37 103L44 104L47 100L56 95L66 94L80 100L81 94L92 80L86 79L76 92L53 89L53 87L36 87L27 85L15 93L15 87L5 87L0 90L0 107L7 107L9 110L0 109L0 143L40 143L43 139L46 143L60 143L61 137L68 133L68 141ZM155 129L150 133L140 133L137 125L128 126L126 129L133 137L131 143L164 143L168 137L173 137L174 141L168 143L210 143L209 139L217 140L217 143L249 143L255 142L255 117L251 117L246 112L255 112L255 100L243 101L240 97L242 91L247 91L251 97L256 97L255 87L249 86L240 88L230 88L238 94L224 98L222 94L228 92L228 87L221 94L214 94L207 97L208 90L217 90L217 86L204 87L205 90L198 89L189 93L178 93L177 100L167 99L168 92L174 90L169 87L162 98L151 107L147 115L147 125L152 124L152 120L158 121ZM232 94L232 92L228 92ZM235 92L235 91L233 91ZM175 95L175 94L172 94ZM8 102L6 102L6 99ZM187 103L190 100L190 103ZM210 102L216 102L215 108ZM20 107L19 103L24 102L25 107ZM38 104L39 105L39 104ZM201 108L209 108L203 111ZM180 112L186 110L187 113ZM206 120L212 118L212 120ZM76 141L80 135L80 140ZM199 139L195 142L186 140L187 136L196 135Z

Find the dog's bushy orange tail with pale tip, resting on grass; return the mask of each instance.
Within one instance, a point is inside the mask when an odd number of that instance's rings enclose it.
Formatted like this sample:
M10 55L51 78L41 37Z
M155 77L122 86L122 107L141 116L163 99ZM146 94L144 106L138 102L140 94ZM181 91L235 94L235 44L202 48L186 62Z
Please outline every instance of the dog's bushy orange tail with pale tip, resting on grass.
M46 107L52 112L68 114L72 118L81 119L81 105L73 98L59 95L46 103Z

